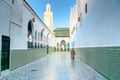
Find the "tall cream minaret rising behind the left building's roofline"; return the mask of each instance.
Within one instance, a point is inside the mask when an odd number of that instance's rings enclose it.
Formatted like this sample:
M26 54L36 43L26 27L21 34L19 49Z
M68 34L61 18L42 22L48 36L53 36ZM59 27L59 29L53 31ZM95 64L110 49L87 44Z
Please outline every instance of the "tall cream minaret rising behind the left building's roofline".
M44 12L44 23L53 31L53 12L49 3L46 5L46 11Z

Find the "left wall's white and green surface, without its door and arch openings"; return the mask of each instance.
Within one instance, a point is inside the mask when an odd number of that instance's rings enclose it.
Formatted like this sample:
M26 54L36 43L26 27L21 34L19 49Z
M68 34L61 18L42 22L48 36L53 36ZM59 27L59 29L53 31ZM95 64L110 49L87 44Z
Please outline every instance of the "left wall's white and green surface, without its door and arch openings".
M10 69L14 70L32 61L40 59L47 55L46 48L27 49L28 41L28 23L35 18L33 22L33 43L42 43L47 45L47 35L53 35L42 20L30 8L30 6L23 0L0 0L0 51L1 51L1 37L10 37ZM43 41L38 40L38 33L45 28L43 34ZM37 40L35 41L35 31L37 31ZM39 36L40 37L40 36ZM48 40L51 43L52 40ZM50 49L52 52L52 49ZM1 53L1 52L0 52ZM1 60L1 55L0 55ZM0 61L1 63L1 61Z

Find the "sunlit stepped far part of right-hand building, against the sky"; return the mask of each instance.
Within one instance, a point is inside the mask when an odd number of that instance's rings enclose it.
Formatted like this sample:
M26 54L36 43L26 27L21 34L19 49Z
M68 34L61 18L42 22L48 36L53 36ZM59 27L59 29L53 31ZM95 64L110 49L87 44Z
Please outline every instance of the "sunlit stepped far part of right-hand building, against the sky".
M82 16L87 13L88 0L77 0L76 4L70 10L70 47L75 44L74 34L78 25L82 21Z

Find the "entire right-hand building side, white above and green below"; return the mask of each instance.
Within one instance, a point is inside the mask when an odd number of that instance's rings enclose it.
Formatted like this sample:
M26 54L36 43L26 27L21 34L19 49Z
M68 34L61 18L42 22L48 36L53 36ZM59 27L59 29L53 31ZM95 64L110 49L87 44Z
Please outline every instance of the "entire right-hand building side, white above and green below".
M70 26L70 40L77 57L108 80L120 79L119 3L119 0L80 0L80 20L77 17L76 22L70 20L75 24L75 28Z

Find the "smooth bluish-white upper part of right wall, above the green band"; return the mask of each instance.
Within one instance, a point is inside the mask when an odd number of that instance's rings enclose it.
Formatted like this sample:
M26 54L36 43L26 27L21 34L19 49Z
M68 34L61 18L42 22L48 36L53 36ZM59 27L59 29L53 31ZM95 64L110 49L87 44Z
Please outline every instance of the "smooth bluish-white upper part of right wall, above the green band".
M76 47L120 46L120 1L89 0L75 32Z

